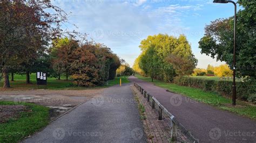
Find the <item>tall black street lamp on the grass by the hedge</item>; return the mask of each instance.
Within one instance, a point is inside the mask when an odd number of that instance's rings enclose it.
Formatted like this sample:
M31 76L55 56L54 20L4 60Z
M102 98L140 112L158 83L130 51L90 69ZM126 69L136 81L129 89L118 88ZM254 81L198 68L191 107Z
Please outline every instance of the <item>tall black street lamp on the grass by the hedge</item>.
M214 0L213 3L233 3L234 4L234 48L233 48L233 92L232 92L232 104L235 105L235 99L237 98L237 89L235 87L235 39L237 30L237 4L233 1Z

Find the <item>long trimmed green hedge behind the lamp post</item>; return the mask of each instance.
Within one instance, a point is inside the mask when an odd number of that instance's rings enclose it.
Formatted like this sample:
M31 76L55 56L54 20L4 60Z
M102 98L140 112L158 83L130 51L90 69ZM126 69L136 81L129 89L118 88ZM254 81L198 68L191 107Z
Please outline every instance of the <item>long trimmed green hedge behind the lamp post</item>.
M175 77L173 82L181 86L199 88L204 91L215 92L223 96L232 97L232 81L215 81L193 77ZM236 82L236 84L237 98L256 104L256 80Z

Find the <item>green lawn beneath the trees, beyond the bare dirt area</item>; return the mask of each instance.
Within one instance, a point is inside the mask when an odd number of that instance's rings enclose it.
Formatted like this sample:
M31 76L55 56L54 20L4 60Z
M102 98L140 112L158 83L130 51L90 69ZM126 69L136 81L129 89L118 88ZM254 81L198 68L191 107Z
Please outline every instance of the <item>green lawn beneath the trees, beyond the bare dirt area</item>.
M114 80L110 80L109 84L103 85L100 87L95 87L95 88L105 88L105 87L110 87L115 84L119 84L119 78L122 78L123 83L129 83L127 78L124 77L116 77ZM47 79L47 86L45 85L39 85L37 87L36 84L36 74L33 73L30 75L30 81L31 84L26 84L25 83L26 75L18 75L15 74L14 80L15 81L10 81L11 84L11 89L15 90L23 90L23 89L54 89L54 90L62 90L62 89L92 89L92 88L87 88L87 87L77 87L73 85L72 81L65 81L65 77L61 77L61 80L56 80L55 77L48 77ZM0 89L3 87L3 80L0 82Z

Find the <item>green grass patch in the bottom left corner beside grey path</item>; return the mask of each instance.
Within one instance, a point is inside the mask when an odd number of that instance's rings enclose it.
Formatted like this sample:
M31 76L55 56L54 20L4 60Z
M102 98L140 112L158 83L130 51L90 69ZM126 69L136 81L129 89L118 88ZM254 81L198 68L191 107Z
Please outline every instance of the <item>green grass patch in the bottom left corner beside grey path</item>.
M17 105L14 102L0 101L0 105ZM18 119L10 119L0 124L0 142L18 142L49 124L49 108L21 103L28 106L29 112L22 112Z

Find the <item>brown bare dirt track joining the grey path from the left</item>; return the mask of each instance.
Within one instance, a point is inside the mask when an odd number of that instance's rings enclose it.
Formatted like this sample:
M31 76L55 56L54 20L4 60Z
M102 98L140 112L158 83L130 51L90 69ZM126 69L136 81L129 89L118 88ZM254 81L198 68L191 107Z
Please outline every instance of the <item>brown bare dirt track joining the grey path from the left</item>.
M21 90L1 91L0 101L35 103L51 108L51 120L69 111L76 105L84 103L92 97L100 96L104 89L88 90Z

